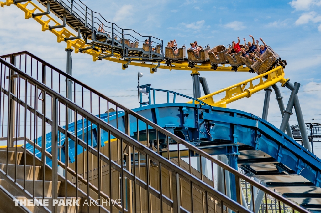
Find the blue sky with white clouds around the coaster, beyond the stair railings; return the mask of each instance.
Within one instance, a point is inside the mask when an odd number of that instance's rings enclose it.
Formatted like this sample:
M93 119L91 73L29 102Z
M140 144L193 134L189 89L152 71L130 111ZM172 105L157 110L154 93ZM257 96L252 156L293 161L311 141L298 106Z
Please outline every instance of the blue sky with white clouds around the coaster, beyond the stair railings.
M36 1L33 1L36 2ZM262 37L288 65L286 78L301 83L299 98L306 122L312 118L321 123L321 1L83 1L91 10L100 12L106 20L142 35L164 40L176 39L178 45L198 41L201 45L231 44L232 40L253 35ZM0 8L0 54L27 50L66 69L66 44L56 43L49 31L32 19L25 20L16 6ZM85 54L73 53L73 75L129 108L138 107L136 97L137 71L143 72L142 84L175 90L192 96L192 78L189 71L158 70L121 65L110 61L93 62ZM252 78L253 73L201 72L207 78L211 91ZM279 85L280 86L280 85ZM125 90L125 91L124 91ZM281 88L287 103L289 90ZM268 121L279 127L282 117L271 95ZM162 97L160 97L162 98ZM228 105L229 108L261 116L264 92ZM291 125L296 124L294 116Z

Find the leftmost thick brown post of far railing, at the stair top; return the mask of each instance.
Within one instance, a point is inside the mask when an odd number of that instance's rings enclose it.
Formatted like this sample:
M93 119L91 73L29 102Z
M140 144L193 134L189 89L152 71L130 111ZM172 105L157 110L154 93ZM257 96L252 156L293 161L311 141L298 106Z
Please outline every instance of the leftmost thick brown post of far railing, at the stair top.
M16 57L12 54L10 57L10 63L13 66L16 66ZM12 78L14 75L14 71L10 70L9 73L9 92L13 95L15 95L16 92L16 78ZM9 100L9 116L8 116L8 145L9 147L13 147L13 138L14 138L14 131L15 131L15 109L16 105L14 104L13 99L10 98L10 93L8 95L8 100Z

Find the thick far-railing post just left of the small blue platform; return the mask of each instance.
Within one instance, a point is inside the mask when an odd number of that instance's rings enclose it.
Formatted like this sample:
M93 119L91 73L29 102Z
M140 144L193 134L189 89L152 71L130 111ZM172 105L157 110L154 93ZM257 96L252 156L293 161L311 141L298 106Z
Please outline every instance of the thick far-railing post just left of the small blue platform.
M125 111L125 134L130 136L130 120L129 113ZM132 172L132 163L131 163L131 146L126 148L126 169L129 173ZM134 155L134 153L133 153ZM134 162L135 163L135 162ZM126 178L126 201L127 201L127 212L133 212L133 189L132 184L129 178ZM135 184L135 183L134 183Z

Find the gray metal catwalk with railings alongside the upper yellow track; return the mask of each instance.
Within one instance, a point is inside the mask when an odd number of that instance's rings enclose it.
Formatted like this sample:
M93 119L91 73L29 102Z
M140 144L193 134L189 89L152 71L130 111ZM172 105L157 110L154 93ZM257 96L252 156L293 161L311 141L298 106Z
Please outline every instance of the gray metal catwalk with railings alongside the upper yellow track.
M91 45L91 47L80 49L80 52L99 47L103 51L111 52L111 54L100 56L100 60L118 53L124 60L128 60L128 64L132 60L162 61L164 58L163 40L152 36L142 36L131 29L122 29L117 24L106 21L100 13L92 11L80 0L37 1L49 7L50 12L61 20L65 20L68 26L78 31L77 37L65 37L65 41L79 39L81 34L86 44ZM89 42L88 39L91 41ZM148 40L147 43L146 40ZM125 64L124 68L128 67L128 64Z

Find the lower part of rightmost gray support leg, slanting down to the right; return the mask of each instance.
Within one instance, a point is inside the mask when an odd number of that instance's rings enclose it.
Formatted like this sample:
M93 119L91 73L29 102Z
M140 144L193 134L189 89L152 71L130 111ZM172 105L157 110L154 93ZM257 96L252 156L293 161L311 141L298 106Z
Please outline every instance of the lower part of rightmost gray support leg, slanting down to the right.
M300 106L300 102L299 102L299 97L297 94L294 95L294 109L295 109L295 114L297 115L297 119L298 119L299 129L300 129L300 133L301 133L301 137L302 137L302 141L303 141L303 146L305 148L307 148L310 152L312 152L309 138L308 138L307 129L305 128L305 123L304 123L303 114L302 114L302 110L301 110L301 106Z

